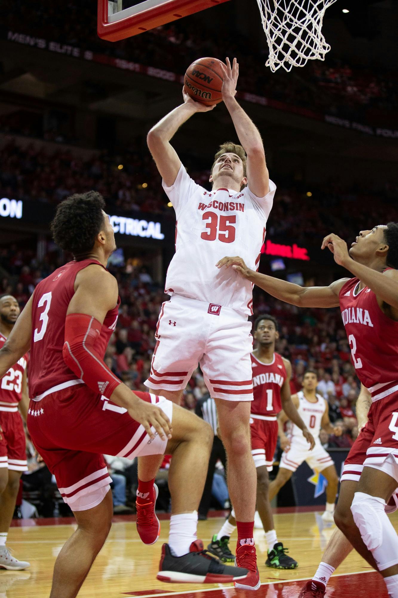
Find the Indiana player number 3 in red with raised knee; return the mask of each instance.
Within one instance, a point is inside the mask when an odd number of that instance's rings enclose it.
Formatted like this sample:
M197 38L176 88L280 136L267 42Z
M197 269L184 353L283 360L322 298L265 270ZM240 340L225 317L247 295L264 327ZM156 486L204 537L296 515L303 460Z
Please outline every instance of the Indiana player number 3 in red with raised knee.
M105 267L116 246L104 207L93 191L60 203L51 230L74 260L39 282L0 349L1 377L30 347L27 426L77 521L57 556L50 598L75 598L111 528L104 453L131 460L173 454L172 518L181 524L198 508L213 441L209 424L162 396L133 393L103 362L120 306ZM160 581L244 580L247 569L204 556L193 531L191 541L170 526Z

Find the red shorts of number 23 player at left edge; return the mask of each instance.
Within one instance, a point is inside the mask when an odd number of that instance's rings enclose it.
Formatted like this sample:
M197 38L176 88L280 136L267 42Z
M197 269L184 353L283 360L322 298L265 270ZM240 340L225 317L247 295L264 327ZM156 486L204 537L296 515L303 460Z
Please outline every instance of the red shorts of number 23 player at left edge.
M0 411L0 467L27 471L26 438L19 411Z

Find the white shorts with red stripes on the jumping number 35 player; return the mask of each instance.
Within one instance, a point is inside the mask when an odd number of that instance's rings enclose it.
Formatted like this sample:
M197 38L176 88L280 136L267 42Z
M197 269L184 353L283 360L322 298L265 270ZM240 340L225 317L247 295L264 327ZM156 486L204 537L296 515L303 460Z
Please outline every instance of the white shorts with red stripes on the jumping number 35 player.
M145 386L182 390L200 364L213 398L252 401L251 329L234 309L173 295L160 312Z

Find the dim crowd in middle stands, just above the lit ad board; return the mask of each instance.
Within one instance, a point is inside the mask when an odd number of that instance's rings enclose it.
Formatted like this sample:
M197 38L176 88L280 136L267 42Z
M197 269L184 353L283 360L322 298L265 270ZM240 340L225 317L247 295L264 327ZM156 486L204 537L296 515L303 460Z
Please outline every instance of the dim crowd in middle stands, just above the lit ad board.
M120 164L123 169L118 169ZM195 181L209 188L209 170L189 168L189 157L184 164ZM102 152L83 160L66 148L51 155L33 144L22 148L12 138L0 149L1 197L59 203L88 189L99 191L109 209L131 216L140 210L169 215L171 221L174 218L148 152L129 151L116 157ZM268 238L290 238L306 247L319 246L324 235L333 230L344 239L354 239L369 225L398 221L397 191L394 185L343 189L336 181L326 181L307 197L303 188L278 186L267 225ZM355 221L351 218L354 210Z

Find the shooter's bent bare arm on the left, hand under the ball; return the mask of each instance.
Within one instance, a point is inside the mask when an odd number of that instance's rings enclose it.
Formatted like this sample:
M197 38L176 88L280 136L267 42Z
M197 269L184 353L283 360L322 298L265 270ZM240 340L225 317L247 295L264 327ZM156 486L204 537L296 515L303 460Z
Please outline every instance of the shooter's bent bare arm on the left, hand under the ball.
M156 166L166 187L174 185L181 166L181 160L172 144L170 144L170 139L176 134L180 126L188 118L191 118L195 112L208 112L215 107L215 104L213 106L205 106L204 104L195 102L185 91L182 91L182 95L183 104L174 108L169 114L166 114L162 120L152 127L146 137L149 151L156 162Z

